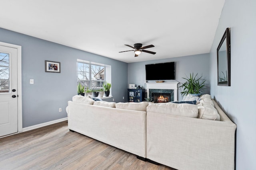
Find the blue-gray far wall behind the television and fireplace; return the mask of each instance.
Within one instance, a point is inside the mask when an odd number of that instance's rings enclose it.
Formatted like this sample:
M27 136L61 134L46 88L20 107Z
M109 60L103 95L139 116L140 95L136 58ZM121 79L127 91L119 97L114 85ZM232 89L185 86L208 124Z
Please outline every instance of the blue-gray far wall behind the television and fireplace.
M146 64L155 64L155 63L166 63L166 62L175 62L175 79L180 82L178 86L181 86L186 80L186 76L190 76L190 73L198 73L197 78L202 76L206 80L206 89L204 89L205 94L210 93L210 54L200 54L200 55L191 55L184 57L175 57L170 59L161 59L161 60L151 60L137 63L128 63L128 84L135 84L136 86L145 86L146 80ZM175 80L166 80L167 82ZM150 82L150 81L149 81ZM154 81L151 81L154 82ZM180 95L180 88L178 88L178 100L182 100Z

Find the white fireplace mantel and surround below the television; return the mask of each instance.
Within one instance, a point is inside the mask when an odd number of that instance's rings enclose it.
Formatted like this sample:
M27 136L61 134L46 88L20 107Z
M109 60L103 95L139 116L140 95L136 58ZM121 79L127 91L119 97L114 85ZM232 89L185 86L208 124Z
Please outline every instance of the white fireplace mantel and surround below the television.
M145 83L147 98L149 97L149 89L170 89L174 90L174 101L178 101L178 83L179 82Z

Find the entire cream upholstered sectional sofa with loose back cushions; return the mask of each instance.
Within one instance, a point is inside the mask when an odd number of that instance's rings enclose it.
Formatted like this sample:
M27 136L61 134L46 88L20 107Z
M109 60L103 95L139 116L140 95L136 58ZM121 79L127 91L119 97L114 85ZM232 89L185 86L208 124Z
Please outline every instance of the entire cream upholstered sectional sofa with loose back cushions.
M178 170L233 170L236 125L210 95L201 99L148 105L74 96L68 128Z

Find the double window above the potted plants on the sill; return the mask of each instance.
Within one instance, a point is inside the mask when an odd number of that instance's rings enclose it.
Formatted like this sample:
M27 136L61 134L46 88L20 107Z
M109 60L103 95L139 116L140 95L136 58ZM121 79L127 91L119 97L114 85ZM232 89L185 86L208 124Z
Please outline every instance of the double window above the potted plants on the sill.
M80 82L85 89L103 88L106 81L106 65L91 63L88 61L77 61L77 84Z

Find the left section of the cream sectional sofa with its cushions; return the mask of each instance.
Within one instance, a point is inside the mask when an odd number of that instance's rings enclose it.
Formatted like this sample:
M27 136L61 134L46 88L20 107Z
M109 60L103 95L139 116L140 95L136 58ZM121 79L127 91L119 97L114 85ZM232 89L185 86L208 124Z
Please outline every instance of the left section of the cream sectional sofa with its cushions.
M136 107L137 110L115 106L114 102L94 102L90 98L74 96L66 109L68 128L136 154L138 158L146 158L146 106L138 105L142 109Z

